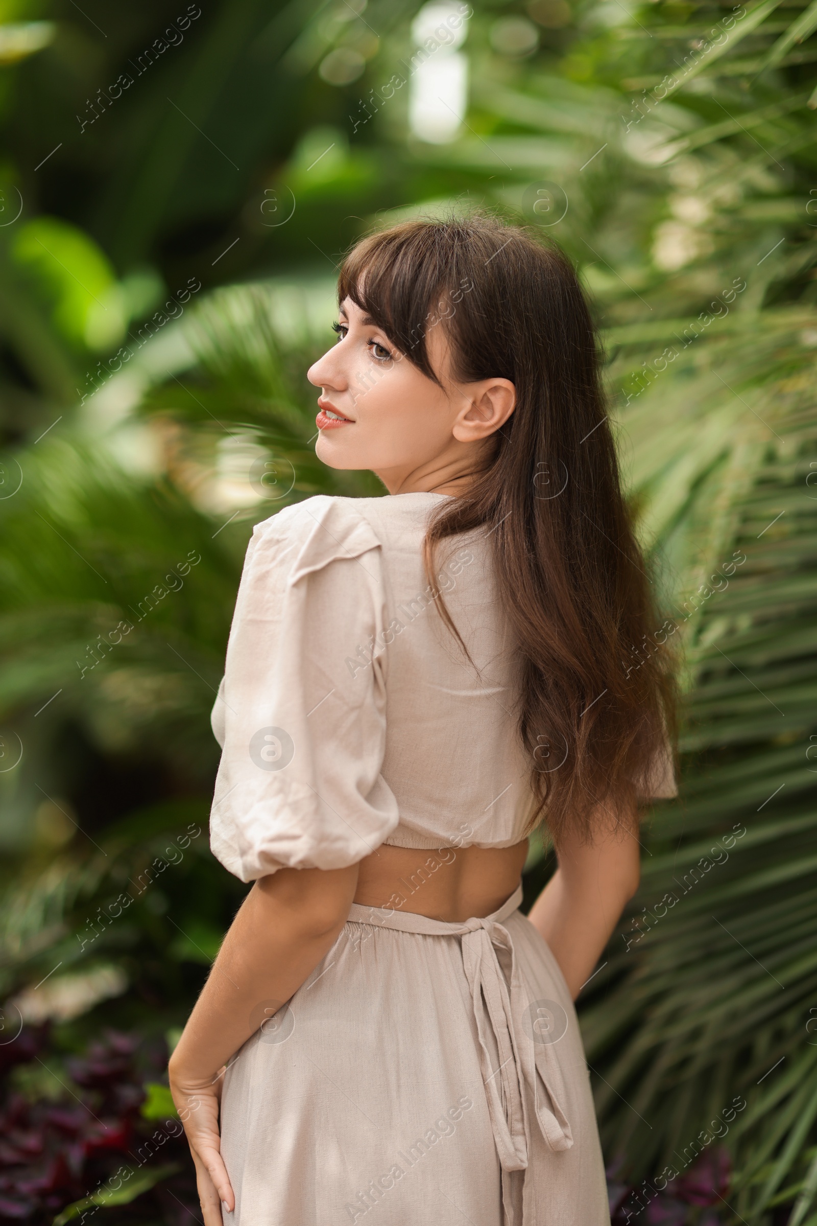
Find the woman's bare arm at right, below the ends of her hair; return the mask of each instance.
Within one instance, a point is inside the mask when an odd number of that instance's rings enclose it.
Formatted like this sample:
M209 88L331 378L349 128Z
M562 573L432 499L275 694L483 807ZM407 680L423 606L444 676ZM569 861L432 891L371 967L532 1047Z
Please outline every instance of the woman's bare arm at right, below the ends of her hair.
M559 868L530 908L528 918L550 945L573 999L638 889L637 829L634 814L617 824L604 814L593 842L563 837Z

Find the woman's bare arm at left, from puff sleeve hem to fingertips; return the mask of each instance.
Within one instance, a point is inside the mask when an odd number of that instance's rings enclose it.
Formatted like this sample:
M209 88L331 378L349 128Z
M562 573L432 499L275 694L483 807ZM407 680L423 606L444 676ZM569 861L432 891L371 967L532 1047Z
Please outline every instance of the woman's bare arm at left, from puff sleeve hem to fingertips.
M230 1211L235 1206L219 1148L224 1065L332 948L356 884L356 864L329 870L283 868L257 880L224 937L170 1057L170 1092L196 1165L205 1226L222 1226L219 1200Z

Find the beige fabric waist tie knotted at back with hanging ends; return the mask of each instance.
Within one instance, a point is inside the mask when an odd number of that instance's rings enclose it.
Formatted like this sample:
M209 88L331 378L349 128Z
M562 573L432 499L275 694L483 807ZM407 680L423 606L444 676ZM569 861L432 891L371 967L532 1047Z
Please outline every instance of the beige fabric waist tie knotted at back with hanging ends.
M492 915L485 918L473 917L462 923L443 923L410 911L366 907L356 902L349 911L353 923L462 939L463 970L476 1020L488 1110L503 1172L527 1168L533 1119L551 1150L566 1150L573 1144L571 1127L561 1106L565 1102L565 1084L555 1045L535 1041L537 1019L529 1011L513 942L502 923L518 910L521 902L522 885ZM507 973L503 972L502 962ZM522 1025L525 1011L529 1026L524 1026L524 1030L529 1032L519 1035L517 1027ZM485 1041L489 1026L500 1056L496 1069L491 1068L491 1056ZM539 1080L543 1083L541 1087Z

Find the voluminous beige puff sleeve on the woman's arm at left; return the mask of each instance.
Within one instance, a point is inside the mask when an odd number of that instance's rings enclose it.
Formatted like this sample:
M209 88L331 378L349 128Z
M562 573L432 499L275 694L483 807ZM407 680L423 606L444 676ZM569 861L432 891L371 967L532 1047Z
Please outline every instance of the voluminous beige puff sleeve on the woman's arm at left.
M211 847L243 881L354 864L396 828L381 662L361 666L383 615L380 541L349 500L256 526L212 715Z

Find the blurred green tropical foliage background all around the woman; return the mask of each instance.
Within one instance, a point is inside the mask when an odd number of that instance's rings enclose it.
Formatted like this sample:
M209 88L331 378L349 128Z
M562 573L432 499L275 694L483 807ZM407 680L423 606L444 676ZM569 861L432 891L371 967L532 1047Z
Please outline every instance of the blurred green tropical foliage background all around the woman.
M817 1222L817 0L0 2L0 1220L189 1226L164 1068L245 888L209 729L360 234L598 319L681 794L579 1000L614 1222ZM532 847L527 902L552 869Z

